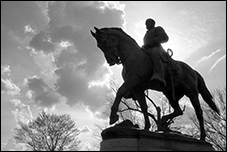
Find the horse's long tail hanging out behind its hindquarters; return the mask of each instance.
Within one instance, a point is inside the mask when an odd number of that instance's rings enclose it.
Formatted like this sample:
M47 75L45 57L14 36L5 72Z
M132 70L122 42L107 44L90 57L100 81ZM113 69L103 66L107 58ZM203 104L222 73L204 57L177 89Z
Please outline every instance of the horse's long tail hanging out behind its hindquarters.
M202 95L204 101L211 107L211 109L213 109L215 112L217 112L217 114L220 115L219 109L215 105L215 103L213 101L213 96L211 95L208 88L206 87L206 84L205 84L203 77L197 71L195 71L195 72L196 72L197 77L198 77L199 93Z

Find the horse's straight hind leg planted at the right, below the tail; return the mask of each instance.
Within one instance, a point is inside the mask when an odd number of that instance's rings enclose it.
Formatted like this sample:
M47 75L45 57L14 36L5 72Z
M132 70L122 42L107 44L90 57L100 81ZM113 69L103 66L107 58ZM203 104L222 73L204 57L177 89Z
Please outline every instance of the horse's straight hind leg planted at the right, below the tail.
M205 141L206 134L205 134L204 124L203 124L203 111L202 111L200 103L199 103L198 93L193 93L193 94L189 95L189 98L195 109L195 113L196 113L197 119L199 121L200 140Z

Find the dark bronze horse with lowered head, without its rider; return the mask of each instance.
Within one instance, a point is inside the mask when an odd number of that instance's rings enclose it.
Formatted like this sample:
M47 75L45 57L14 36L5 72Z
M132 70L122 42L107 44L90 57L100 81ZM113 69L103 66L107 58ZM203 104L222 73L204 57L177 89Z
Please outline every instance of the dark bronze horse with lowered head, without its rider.
M111 107L109 124L114 124L119 118L117 111L121 98L134 97L140 104L144 115L144 129L149 130L151 125L148 118L144 91L153 89L161 91L167 97L171 107L174 109L173 113L162 117L162 122L166 122L183 114L178 101L186 95L190 99L195 109L197 119L199 120L200 140L205 141L206 134L204 130L202 109L198 99L199 93L202 95L204 101L218 114L219 110L215 105L213 97L206 87L202 76L186 63L175 61L171 58L172 62L175 62L179 68L179 72L178 74L170 75L168 72L169 64L164 64L167 85L159 86L157 85L157 82L149 81L153 74L153 63L149 55L142 50L133 38L126 34L121 28L94 28L96 32L94 33L91 31L91 34L96 39L97 46L104 53L108 64L110 66L114 64L123 65L122 77L124 82L116 93L114 103ZM173 89L174 92L172 92Z

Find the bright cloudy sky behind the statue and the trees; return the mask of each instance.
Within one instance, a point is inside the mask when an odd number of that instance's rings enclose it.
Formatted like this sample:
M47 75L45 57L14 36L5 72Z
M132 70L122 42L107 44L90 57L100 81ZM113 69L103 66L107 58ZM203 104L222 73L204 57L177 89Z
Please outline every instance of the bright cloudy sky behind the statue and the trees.
M122 83L122 67L106 64L90 30L121 27L141 46L147 18L169 35L164 48L211 91L226 86L225 1L1 1L1 149L20 150L12 129L42 109L70 114L92 146L95 125L108 122L101 112L109 82Z

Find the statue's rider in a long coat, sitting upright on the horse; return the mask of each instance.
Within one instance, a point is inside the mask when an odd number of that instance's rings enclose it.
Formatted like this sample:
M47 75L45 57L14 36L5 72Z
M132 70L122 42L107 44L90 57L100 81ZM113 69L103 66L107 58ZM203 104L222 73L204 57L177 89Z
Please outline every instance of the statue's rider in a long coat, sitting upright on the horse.
M144 48L146 53L151 53L150 57L154 64L154 74L150 81L156 79L161 81L163 86L166 86L164 66L162 63L166 60L165 57L163 57L163 54L166 54L166 52L162 48L161 43L167 42L169 37L162 27L155 27L155 21L153 19L148 18L145 24L147 32L143 39L144 45L142 48Z

